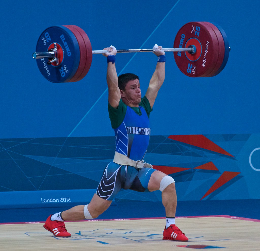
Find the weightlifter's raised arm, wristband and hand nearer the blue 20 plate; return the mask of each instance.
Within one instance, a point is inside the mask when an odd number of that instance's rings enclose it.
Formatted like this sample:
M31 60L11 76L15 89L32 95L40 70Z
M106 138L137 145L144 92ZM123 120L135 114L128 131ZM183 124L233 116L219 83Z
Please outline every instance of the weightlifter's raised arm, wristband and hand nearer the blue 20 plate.
M114 61L116 55L116 48L114 46L110 46L108 48L105 48L104 50L109 51L103 54L104 56L108 57L109 61L107 63L108 102L112 107L118 108L121 95L120 90L118 88L118 77Z

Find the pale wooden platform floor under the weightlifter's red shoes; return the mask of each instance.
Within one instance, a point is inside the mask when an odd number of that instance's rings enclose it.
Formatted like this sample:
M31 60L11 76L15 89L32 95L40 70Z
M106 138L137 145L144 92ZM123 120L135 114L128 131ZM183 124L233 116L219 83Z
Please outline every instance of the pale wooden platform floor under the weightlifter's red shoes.
M232 216L177 217L189 242L164 241L165 218L67 222L70 238L57 238L41 222L0 224L5 250L260 250L260 220Z

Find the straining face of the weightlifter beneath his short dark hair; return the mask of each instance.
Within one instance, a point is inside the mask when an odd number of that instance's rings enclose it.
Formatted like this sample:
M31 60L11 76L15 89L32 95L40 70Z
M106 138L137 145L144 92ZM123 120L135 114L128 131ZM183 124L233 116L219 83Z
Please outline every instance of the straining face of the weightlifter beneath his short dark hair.
M138 79L130 80L125 87L125 90L120 90L121 98L128 106L138 107L141 102L141 90Z

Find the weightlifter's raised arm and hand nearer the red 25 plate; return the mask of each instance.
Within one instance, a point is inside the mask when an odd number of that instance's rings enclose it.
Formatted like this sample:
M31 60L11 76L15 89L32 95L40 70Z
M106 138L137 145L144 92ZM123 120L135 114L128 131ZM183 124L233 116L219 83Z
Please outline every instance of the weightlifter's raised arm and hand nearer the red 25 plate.
M161 50L161 46L154 45L154 54L158 56L165 55L165 52ZM164 61L164 62L160 62ZM149 100L151 107L154 105L154 101L157 97L158 91L161 88L165 79L165 60L159 60L157 62L153 76L149 82L148 89L146 91L146 98Z

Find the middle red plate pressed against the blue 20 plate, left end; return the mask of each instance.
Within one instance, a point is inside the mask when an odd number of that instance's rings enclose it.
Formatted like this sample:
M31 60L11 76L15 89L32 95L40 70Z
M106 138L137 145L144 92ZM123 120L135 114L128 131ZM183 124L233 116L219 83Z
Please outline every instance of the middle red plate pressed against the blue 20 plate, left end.
M79 49L80 49L80 63L79 63L79 67L76 71L76 73L74 74L74 76L69 79L69 81L67 82L74 82L76 81L77 78L79 78L79 76L82 74L84 67L85 67L85 63L86 63L86 58L87 58L87 51L86 51L86 46L84 43L84 40L81 36L81 34L79 33L79 31L77 31L73 25L63 25L64 27L67 27L68 29L70 29L72 31L72 33L74 34L74 36L76 37L78 43L79 43Z

